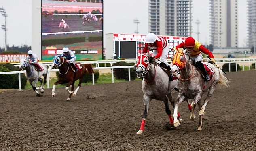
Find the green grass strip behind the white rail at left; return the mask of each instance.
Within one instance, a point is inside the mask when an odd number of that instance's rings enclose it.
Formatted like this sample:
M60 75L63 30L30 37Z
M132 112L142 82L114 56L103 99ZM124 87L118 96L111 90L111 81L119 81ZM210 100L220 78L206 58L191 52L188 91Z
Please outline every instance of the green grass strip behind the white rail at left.
M57 80L58 80L57 77L50 78L50 80L49 80L49 88L53 88L53 83L55 83ZM141 81L141 79L135 78L135 81ZM79 82L79 80L77 80L75 82L75 87L78 85L78 82ZM119 79L116 79L114 77L114 83L120 83L120 82L126 82L126 80L119 80ZM97 84L106 84L106 83L112 83L112 74L111 73L99 74L99 79L97 80L97 83L95 83L95 85L97 85ZM37 85L40 85L39 81L38 81ZM67 84L56 85L56 88L58 88L58 87L66 87L66 85ZM93 83L92 82L82 83L81 85L82 86L93 85ZM46 83L44 88L47 88L47 83ZM30 90L30 89L32 89L32 87L31 87L30 83L27 81L26 86L25 86L25 90Z

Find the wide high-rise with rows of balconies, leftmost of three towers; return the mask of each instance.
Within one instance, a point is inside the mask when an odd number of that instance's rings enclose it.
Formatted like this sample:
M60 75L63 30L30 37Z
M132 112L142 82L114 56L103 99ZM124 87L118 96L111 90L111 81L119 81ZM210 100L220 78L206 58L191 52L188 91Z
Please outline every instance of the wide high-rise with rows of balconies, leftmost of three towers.
M191 36L192 0L148 0L149 31L156 35Z

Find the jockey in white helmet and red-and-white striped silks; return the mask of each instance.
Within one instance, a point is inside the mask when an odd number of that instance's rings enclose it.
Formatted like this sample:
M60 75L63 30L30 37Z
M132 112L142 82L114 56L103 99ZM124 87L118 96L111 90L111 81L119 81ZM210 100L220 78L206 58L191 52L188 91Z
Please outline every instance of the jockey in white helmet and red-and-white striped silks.
M160 58L160 65L163 68L171 70L169 63L166 60L170 45L164 37L156 36L154 33L148 33L148 35L146 35L145 47L142 52L147 53L149 49L153 50L153 56L156 62Z

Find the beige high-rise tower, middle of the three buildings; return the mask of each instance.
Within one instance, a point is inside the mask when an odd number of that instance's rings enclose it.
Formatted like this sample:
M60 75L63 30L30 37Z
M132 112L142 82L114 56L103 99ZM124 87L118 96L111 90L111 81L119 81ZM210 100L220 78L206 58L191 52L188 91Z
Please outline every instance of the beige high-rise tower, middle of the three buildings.
M210 1L210 44L215 48L238 47L237 0ZM254 10L255 11L255 10Z

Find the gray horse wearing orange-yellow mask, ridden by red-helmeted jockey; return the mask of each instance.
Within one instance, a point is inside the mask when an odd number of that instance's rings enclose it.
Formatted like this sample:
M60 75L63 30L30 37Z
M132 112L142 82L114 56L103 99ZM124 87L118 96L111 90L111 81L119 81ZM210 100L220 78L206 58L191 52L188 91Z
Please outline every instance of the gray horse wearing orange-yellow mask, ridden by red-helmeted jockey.
M195 120L195 106L198 105L199 110L199 124L197 130L202 130L202 115L205 114L205 108L209 103L209 99L212 96L215 87L219 85L225 85L229 87L228 83L230 79L227 79L223 72L214 66L211 63L205 62L209 68L209 77L210 81L205 82L205 79L202 77L200 70L197 69L194 65L190 64L190 52L187 50L183 51L183 48L178 48L178 51L173 56L173 67L172 74L175 76L180 72L180 80L178 81L177 88L179 89L178 98L175 101L174 105L174 126L177 127L180 125L178 120L178 106L181 102L187 99L193 99L191 103L192 111L190 114L190 120ZM201 104L201 97L203 93L207 92L207 97L204 100L204 104Z

